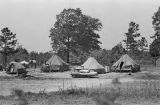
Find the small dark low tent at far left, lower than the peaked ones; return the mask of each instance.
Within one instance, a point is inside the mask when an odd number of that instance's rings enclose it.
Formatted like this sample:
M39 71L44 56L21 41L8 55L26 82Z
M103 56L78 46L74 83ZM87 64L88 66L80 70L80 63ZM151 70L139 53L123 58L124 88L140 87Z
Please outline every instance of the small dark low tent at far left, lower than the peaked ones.
M25 70L25 67L19 62L13 61L9 64L9 68L7 70L7 73L17 73L18 70Z

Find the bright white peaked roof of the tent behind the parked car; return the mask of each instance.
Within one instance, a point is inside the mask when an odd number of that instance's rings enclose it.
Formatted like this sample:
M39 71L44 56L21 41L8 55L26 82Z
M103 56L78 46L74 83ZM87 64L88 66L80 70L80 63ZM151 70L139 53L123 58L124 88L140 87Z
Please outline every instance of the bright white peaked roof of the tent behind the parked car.
M103 69L104 67L97 62L93 57L89 57L86 62L82 65L84 69Z

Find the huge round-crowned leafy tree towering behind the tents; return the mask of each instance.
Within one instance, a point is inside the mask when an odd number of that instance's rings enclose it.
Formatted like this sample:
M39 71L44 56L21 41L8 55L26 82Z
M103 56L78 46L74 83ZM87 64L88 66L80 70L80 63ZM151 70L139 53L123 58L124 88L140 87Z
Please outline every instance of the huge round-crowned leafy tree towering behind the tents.
M101 42L98 40L100 36L97 31L102 28L102 23L99 19L84 15L79 8L64 9L56 19L54 27L50 29L49 37L53 50L67 49L68 63L69 52L100 49Z

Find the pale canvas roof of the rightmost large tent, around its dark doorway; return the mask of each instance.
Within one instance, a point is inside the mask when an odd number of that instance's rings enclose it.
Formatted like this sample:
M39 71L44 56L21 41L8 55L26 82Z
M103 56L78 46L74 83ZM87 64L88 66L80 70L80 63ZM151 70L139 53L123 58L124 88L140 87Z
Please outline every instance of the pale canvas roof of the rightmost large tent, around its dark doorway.
M112 65L112 67L119 67L120 66L120 63L123 62L123 66L130 66L130 65L136 65L137 63L132 59L130 58L127 54L125 55L122 55L121 58Z

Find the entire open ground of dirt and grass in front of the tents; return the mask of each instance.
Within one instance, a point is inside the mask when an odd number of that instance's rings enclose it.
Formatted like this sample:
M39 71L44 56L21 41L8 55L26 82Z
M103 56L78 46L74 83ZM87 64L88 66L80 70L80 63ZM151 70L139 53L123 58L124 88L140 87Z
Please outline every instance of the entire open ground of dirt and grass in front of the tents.
M160 72L107 73L99 78L71 78L70 72L30 72L19 79L0 74L0 105L160 105Z

